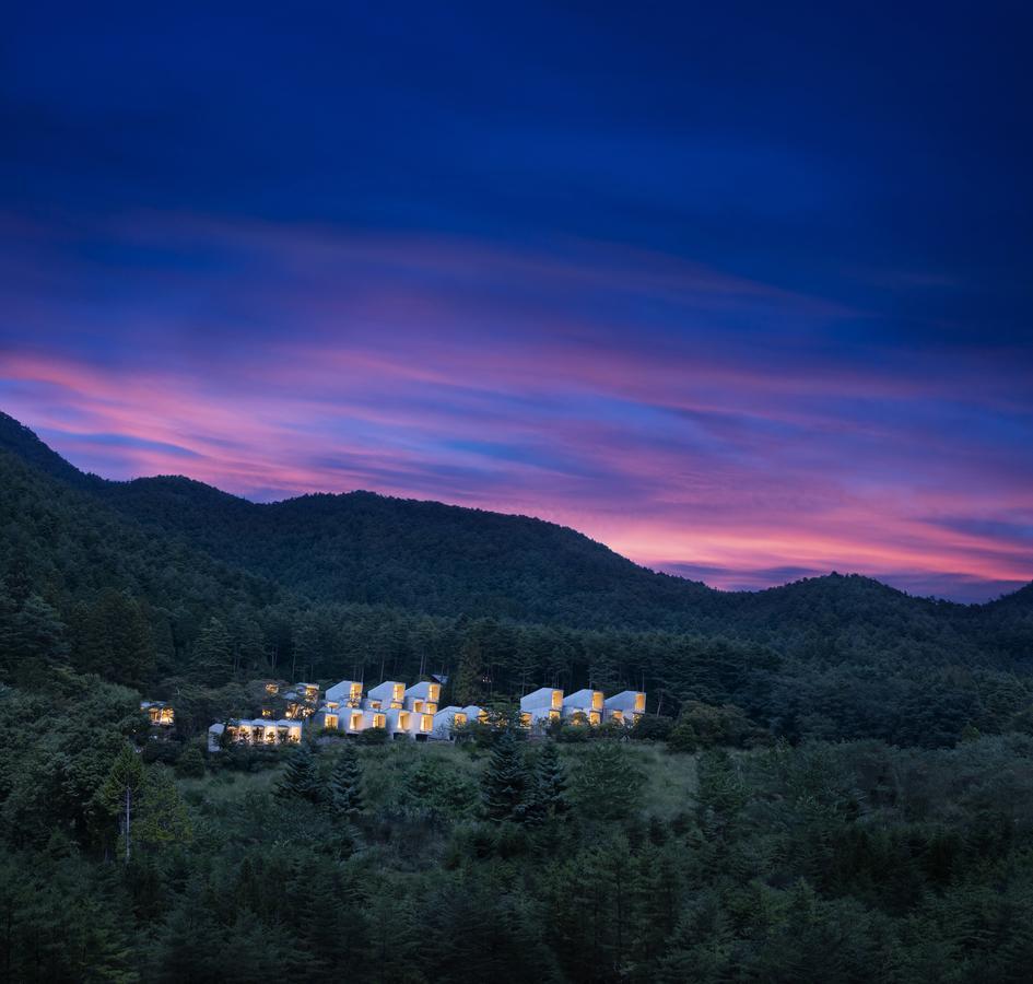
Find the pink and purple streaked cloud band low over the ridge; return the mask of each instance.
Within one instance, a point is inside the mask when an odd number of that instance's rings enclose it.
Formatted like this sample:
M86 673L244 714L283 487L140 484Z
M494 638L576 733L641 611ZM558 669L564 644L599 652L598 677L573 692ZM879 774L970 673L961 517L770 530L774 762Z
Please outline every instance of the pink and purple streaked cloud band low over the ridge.
M21 233L0 399L82 467L528 513L721 587L1033 576L1022 360L988 379L978 350L919 359L859 337L864 311L613 245Z

